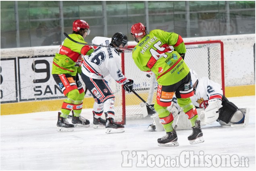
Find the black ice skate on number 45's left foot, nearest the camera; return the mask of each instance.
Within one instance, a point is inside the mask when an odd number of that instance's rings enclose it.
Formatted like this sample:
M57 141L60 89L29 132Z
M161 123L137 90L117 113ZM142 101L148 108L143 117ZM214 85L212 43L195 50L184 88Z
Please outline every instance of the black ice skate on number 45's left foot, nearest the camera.
M158 146L179 146L176 128L172 132L167 132L162 138L158 138Z

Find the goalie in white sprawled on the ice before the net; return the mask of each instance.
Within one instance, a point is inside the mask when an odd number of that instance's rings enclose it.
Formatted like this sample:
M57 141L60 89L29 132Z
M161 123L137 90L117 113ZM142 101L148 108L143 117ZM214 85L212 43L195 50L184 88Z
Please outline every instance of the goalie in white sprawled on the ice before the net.
M219 122L221 126L246 127L248 125L249 109L238 108L223 96L220 84L207 77L198 78L194 70L190 70L190 73L194 88L194 96L190 97L190 99L197 108L201 126L212 124L215 121ZM184 112L181 111L181 107L177 105L177 100L175 101L175 99L173 97L173 103L168 107L168 110L173 113L173 123L176 123L179 118L177 130L191 128L190 122L187 122ZM163 131L163 128L159 128L159 125L157 126L158 129L155 129L154 125L150 125L148 131Z

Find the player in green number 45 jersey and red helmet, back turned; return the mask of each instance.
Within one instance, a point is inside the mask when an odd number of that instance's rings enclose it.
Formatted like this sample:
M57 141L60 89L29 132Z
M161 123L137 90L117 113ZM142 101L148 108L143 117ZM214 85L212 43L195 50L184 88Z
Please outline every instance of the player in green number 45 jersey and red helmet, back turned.
M195 106L189 97L194 95L191 75L184 62L185 44L180 35L159 29L147 33L142 23L131 27L131 35L138 43L133 49L133 60L142 71L152 71L156 75L158 89L154 108L159 115L166 135L158 138L159 146L178 146L176 129L173 128L173 115L167 110L173 93L181 109L192 124L190 144L204 142L200 121ZM173 46L172 50L169 46Z

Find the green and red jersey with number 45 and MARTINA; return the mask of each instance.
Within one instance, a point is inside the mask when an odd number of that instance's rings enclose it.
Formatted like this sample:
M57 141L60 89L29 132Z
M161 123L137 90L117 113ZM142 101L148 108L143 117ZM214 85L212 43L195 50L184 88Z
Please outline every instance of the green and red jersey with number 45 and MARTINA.
M185 44L180 35L156 29L139 41L132 56L140 70L151 70L156 74L158 84L172 85L189 73L187 64L179 55L185 52Z

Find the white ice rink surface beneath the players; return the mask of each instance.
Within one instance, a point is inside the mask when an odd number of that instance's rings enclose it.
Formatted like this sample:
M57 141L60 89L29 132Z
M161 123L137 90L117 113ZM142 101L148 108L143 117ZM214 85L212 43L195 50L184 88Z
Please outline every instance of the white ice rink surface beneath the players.
M144 131L152 122L150 117L128 120L122 134L105 134L105 129L93 128L92 109L82 111L91 126L73 132L56 131L57 111L1 115L1 170L255 170L255 96L228 99L237 107L250 108L246 128L226 128L215 122L202 127L205 142L195 145L187 140L191 130L177 130L180 145L176 147L157 145L157 138L165 132ZM132 167L122 167L128 163L122 151L129 152ZM132 154L143 151L146 160L152 155L175 159L184 151L215 157L237 155L240 160L248 158L249 167L137 167L140 158Z

